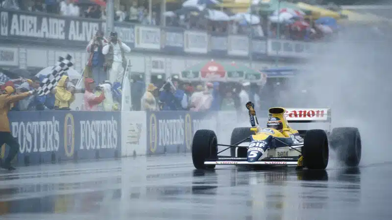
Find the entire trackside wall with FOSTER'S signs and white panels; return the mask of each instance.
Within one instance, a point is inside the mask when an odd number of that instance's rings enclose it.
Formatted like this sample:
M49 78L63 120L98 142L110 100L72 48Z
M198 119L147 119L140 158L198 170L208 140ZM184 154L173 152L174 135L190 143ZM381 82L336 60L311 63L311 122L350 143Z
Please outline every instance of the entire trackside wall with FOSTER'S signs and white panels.
M20 143L19 166L126 156L190 153L198 129L230 142L233 128L249 126L244 112L12 111L10 129ZM259 120L259 121L262 121ZM1 157L8 147L1 148Z

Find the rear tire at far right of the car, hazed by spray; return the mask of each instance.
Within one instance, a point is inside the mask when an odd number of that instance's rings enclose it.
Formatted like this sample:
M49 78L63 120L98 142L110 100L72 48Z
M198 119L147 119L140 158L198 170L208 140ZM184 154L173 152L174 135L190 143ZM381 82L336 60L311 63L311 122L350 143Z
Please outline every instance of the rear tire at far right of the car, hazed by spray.
M340 161L349 167L358 166L362 154L361 134L358 128L334 128L330 139Z

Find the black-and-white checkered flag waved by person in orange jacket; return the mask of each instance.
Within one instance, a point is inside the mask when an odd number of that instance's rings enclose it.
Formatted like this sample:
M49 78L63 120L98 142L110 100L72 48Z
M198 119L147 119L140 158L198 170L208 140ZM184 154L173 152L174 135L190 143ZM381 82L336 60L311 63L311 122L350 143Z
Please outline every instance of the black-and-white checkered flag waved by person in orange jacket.
M59 57L57 65L53 66L52 73L50 73L47 78L45 78L41 84L40 88L38 89L37 93L38 95L47 95L51 91L52 88L54 88L60 78L66 73L66 71L73 66L73 63L71 63L72 56L67 55L67 57L64 59L64 57Z

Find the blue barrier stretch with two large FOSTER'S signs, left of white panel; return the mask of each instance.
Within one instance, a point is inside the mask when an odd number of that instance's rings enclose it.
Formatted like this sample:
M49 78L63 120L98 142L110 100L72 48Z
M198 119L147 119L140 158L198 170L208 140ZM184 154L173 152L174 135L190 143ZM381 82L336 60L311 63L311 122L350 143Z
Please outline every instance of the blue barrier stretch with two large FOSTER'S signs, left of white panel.
M121 155L118 112L12 111L9 120L19 165Z

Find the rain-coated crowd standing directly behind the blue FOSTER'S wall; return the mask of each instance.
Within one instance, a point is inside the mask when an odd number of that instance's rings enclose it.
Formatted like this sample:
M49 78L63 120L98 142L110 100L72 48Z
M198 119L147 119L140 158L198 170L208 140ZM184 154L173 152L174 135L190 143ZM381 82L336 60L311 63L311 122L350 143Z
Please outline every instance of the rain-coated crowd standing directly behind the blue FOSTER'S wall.
M30 79L10 79L0 73L1 94L22 94L37 90L45 75ZM257 84L228 82L186 82L178 78L150 83L135 74L131 83L133 110L190 110L190 111L230 111L242 110L245 103L252 100L260 106L261 87ZM93 78L84 79L84 88L76 88L69 76L64 75L48 95L28 96L11 106L11 111L25 110L71 110L75 95L82 93L83 109L87 111L120 110L121 92L112 88L109 81L98 86Z

